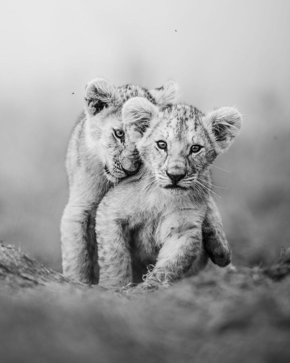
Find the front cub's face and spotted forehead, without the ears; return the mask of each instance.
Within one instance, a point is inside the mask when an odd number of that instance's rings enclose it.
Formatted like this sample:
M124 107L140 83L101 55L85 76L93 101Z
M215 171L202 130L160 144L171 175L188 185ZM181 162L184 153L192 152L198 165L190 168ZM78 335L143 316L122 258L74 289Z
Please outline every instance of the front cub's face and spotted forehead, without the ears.
M159 114L137 143L141 158L166 189L188 189L215 157L214 144L194 107L176 105Z

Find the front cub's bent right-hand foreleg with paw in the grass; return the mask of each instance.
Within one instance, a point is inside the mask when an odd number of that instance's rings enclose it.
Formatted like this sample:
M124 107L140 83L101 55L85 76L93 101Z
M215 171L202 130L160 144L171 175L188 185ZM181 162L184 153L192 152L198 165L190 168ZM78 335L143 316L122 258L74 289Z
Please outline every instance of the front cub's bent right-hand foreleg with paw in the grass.
M202 249L201 227L201 221L192 223L180 214L171 215L163 221L157 229L157 243L161 244L161 249L145 283L172 282L185 276Z

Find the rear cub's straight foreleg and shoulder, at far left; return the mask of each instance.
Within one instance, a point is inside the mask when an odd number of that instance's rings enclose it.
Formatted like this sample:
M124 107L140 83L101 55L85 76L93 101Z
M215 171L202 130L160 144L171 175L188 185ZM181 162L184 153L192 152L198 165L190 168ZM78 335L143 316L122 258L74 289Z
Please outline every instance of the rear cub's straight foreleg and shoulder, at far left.
M61 220L63 274L92 284L94 278L95 212L105 195L107 178L101 160L87 150L84 120L72 132L66 157L69 200Z

